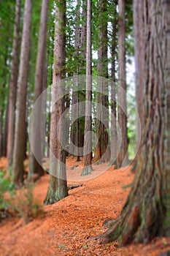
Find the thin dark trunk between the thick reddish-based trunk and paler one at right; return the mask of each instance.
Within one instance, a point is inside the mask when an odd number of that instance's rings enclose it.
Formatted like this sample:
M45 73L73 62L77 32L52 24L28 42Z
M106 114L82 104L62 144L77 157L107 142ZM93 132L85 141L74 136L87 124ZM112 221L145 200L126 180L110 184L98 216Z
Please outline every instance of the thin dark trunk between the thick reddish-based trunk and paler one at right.
M116 165L117 158L117 113L116 113L116 34L117 34L117 1L114 6L114 18L112 20L112 84L111 84L111 158L109 165Z

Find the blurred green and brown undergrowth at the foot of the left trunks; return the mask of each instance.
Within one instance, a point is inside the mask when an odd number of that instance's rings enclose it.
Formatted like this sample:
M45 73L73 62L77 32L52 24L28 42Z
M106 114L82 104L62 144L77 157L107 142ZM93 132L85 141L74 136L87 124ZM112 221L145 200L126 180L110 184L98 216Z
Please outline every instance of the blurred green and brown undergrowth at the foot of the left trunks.
M15 184L0 171L0 222L9 216L18 216L25 223L35 218L42 218L42 206L34 199L34 184L26 183L25 187L15 189Z

